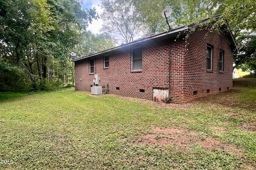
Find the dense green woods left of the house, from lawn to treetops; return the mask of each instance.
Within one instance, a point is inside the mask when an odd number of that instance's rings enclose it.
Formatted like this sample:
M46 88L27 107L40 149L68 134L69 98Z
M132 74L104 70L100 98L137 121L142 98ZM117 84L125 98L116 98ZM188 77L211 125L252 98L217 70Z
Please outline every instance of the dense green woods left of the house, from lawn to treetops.
M83 46L86 40L104 41L86 31L97 18L81 0L0 0L0 91L52 90L72 82L70 52L80 45L86 55L94 52L90 41Z

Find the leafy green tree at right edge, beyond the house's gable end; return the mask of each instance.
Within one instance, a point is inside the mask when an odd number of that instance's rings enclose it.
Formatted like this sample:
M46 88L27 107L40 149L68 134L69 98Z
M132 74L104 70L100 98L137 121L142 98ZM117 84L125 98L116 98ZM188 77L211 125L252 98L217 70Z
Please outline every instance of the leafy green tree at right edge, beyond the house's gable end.
M246 64L256 69L256 4L254 0L224 0L218 2L222 20L228 21L240 53L234 56L236 65Z

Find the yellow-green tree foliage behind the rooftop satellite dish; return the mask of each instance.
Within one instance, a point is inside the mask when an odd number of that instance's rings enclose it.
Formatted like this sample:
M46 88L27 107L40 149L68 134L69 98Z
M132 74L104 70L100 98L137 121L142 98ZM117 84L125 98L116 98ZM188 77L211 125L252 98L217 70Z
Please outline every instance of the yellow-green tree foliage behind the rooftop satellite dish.
M162 32L168 29L166 19L162 17L162 10L172 8L172 15L168 18L171 27L186 25L193 21L206 18L214 13L217 1L212 0L134 0L136 13L143 21L144 35Z

